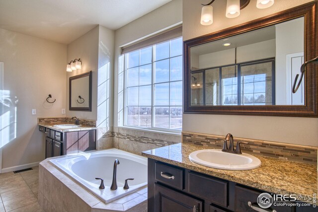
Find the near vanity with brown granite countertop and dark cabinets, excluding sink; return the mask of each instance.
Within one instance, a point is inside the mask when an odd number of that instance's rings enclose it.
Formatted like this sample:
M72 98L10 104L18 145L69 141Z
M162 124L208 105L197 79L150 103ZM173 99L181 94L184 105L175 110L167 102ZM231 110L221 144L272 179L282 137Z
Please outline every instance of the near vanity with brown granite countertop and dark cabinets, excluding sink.
M193 163L189 154L203 147L177 143L144 151L148 157L149 212L314 212L317 208L261 209L261 193L317 193L317 166L258 156L256 169L233 171Z

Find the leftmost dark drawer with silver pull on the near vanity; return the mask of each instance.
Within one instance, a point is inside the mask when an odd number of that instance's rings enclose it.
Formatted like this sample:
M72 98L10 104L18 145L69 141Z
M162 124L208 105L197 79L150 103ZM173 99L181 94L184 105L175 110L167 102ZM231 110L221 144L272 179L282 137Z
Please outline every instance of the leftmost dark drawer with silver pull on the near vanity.
M156 162L155 177L162 183L180 190L183 189L183 169Z

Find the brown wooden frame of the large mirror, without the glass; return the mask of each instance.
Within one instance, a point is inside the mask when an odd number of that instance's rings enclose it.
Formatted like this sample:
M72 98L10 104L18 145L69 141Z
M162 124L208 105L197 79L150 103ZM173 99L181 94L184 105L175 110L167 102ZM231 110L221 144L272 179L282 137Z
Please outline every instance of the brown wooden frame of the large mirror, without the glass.
M277 12L224 30L184 41L184 113L257 115L257 116L294 116L318 117L318 70L317 65L307 66L305 72L305 105L267 105L267 106L191 106L190 48L233 35L253 31L291 19L305 19L305 61L318 56L318 1L310 2L288 10ZM315 67L316 66L316 67Z

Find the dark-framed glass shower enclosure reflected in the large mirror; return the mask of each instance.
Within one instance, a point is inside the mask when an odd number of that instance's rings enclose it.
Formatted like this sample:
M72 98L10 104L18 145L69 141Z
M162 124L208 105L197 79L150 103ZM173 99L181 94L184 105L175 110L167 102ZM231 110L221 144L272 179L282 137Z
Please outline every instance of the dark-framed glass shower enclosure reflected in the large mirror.
M191 71L191 105L274 105L274 59Z

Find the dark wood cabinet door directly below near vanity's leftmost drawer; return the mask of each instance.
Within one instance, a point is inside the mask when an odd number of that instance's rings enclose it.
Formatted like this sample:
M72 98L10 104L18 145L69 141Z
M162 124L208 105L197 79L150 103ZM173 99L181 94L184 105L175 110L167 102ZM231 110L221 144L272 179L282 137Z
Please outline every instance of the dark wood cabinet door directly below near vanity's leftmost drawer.
M202 212L203 203L155 183L155 212Z

